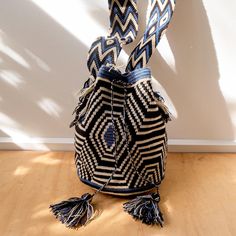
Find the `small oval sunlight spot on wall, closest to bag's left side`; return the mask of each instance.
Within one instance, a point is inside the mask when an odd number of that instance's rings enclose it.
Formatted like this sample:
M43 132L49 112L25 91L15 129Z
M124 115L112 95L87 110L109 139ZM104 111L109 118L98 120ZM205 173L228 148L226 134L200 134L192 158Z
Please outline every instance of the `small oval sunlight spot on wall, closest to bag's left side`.
M59 118L62 112L62 108L50 98L42 98L37 104L48 115L55 118Z

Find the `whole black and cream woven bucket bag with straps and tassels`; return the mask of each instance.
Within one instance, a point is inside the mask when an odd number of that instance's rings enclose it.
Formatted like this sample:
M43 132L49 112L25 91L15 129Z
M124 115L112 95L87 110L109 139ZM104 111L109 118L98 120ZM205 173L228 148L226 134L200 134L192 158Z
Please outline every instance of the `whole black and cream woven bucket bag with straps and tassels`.
M124 210L143 223L163 226L158 186L166 170L170 113L154 91L146 65L169 25L175 1L149 0L147 27L125 72L116 62L122 46L137 36L137 1L108 3L110 34L92 43L87 60L90 76L80 90L70 124L75 128L78 176L95 192L50 205L50 209L66 226L77 227L92 218L96 193L138 195L124 203ZM150 190L156 191L145 194Z

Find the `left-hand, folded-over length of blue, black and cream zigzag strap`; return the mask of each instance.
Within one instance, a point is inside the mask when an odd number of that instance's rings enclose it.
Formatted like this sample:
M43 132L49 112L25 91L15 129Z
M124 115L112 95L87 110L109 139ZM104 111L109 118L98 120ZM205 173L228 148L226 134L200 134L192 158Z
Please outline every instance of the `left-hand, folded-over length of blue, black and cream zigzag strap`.
M109 35L101 36L91 45L87 66L95 79L102 65L115 65L122 44L131 43L138 32L136 0L108 0L110 10Z

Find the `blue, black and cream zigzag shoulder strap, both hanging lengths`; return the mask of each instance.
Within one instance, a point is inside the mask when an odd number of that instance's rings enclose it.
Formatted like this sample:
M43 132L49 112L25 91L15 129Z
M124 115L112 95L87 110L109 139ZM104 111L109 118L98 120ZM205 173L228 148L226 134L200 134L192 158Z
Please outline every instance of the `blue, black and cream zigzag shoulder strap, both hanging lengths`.
M108 0L110 30L108 36L98 37L91 45L87 66L88 80L80 90L89 88L102 65L116 65L123 44L131 43L138 33L137 0ZM153 50L165 33L175 8L175 0L149 0L149 20L143 37L130 54L126 71L145 67ZM80 97L82 99L83 96Z

